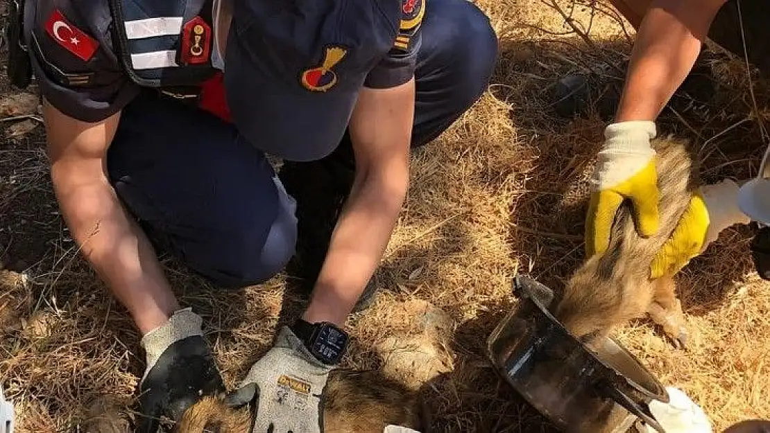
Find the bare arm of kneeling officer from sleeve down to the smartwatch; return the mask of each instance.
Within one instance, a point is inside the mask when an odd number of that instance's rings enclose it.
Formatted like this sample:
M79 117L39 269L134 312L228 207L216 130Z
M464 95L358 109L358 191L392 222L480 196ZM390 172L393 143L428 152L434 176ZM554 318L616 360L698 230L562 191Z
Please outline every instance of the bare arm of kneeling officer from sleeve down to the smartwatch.
M414 78L362 88L350 118L356 180L303 318L343 325L380 263L409 186Z

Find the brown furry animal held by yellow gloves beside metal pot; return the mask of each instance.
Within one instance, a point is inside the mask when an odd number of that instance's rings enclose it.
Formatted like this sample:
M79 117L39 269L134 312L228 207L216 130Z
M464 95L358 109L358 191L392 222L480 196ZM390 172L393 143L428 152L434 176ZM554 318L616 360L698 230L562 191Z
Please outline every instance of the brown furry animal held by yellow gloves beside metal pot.
M621 206L607 251L577 269L553 308L554 317L584 341L607 335L615 326L648 313L676 346L686 343L688 333L673 275L651 280L650 265L698 188L697 168L685 142L669 137L654 140L652 145L658 152L658 232L650 238L639 236L630 208Z

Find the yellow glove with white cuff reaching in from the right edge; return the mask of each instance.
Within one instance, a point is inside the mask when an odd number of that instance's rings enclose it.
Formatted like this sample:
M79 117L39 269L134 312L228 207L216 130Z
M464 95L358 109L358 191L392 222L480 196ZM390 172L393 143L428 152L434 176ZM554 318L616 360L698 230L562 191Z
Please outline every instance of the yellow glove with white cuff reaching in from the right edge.
M674 275L701 254L719 233L734 224L748 224L738 207L738 185L730 180L705 185L695 192L671 237L658 251L651 278Z

